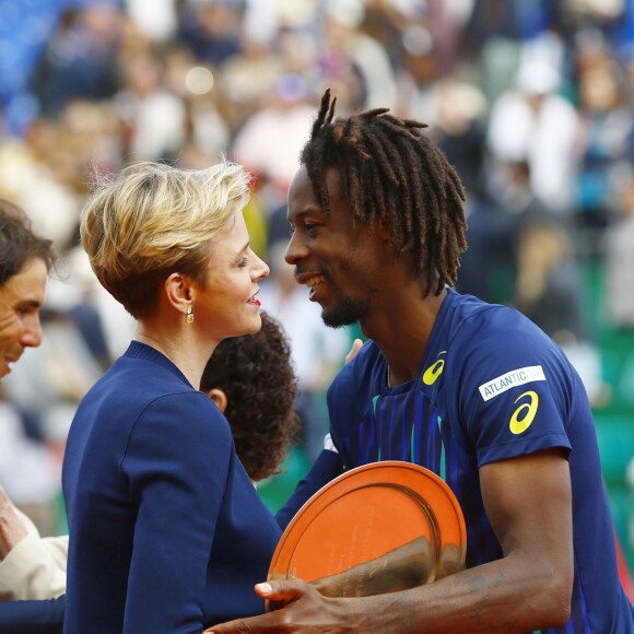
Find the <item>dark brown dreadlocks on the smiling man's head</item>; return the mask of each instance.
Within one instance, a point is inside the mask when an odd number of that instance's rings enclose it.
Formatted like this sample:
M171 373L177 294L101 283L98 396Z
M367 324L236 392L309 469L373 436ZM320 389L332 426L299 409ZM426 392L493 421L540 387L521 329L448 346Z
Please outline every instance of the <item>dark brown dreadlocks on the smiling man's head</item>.
M330 89L300 161L315 196L330 212L326 173L339 172L355 223L383 223L395 256L411 254L423 294L454 285L467 250L465 190L443 151L424 137L425 124L400 119L389 108L334 118Z

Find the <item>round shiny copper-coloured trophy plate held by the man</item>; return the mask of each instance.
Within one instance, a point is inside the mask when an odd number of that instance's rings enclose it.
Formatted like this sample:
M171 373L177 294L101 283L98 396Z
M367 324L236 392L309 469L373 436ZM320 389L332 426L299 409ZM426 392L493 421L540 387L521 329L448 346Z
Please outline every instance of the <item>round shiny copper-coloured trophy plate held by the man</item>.
M414 547L415 554L399 550ZM462 570L466 550L462 512L438 476L410 462L373 462L336 478L302 506L280 539L268 578L313 583L344 573L348 582L325 594L366 596L414 584L395 582L400 570L387 586L368 580L399 552L410 567L415 562L412 578L424 584Z

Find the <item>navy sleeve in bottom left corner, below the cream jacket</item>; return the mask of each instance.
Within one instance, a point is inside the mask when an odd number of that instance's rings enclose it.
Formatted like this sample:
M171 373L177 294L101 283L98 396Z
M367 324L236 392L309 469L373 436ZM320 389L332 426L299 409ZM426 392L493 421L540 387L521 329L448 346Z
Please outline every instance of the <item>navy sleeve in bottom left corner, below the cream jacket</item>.
M66 597L48 601L0 601L0 632L61 634Z

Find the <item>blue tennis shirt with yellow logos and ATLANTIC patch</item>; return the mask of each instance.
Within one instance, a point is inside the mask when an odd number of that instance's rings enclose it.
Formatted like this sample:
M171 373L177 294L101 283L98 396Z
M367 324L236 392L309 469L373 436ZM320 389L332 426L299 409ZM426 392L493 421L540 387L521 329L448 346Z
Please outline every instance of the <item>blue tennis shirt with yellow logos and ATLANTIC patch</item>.
M408 460L451 488L467 525L468 567L502 557L482 502L483 465L559 447L568 454L575 577L568 634L634 632L590 406L563 352L515 309L449 290L415 380L390 388L369 341L328 391L347 468Z

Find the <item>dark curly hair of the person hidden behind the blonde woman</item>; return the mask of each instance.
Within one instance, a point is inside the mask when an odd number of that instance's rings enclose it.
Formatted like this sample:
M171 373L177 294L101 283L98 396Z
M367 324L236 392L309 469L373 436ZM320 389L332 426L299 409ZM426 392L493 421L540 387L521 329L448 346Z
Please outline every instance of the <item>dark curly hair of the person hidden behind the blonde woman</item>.
M224 414L236 453L254 481L280 472L286 447L300 432L294 412L297 378L289 341L277 319L260 315L262 328L257 334L219 344L200 381L200 389L211 398L216 390L224 392Z

